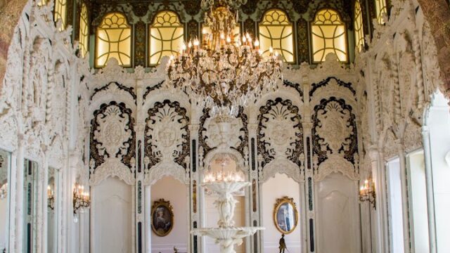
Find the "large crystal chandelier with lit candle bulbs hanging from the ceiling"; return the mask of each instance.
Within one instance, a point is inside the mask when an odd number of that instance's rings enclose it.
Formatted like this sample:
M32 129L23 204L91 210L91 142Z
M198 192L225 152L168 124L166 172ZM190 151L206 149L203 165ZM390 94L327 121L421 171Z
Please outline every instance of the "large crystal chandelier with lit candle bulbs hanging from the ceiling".
M277 88L282 78L278 52L263 55L259 41L247 33L234 34L238 7L246 0L203 0L205 25L202 41L183 44L167 65L166 86L187 93L193 103L210 108L218 119L236 117L239 107ZM210 32L208 32L210 30Z

